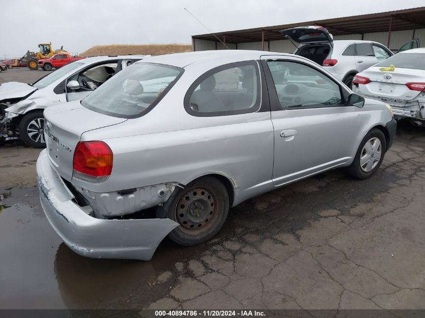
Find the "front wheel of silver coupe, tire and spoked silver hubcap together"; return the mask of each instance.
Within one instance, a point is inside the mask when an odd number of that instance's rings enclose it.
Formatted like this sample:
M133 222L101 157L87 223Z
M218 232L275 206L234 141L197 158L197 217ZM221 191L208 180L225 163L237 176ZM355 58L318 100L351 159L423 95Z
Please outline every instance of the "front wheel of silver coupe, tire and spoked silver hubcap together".
M347 174L356 179L370 178L384 160L387 142L379 129L372 129L360 143L353 163Z

